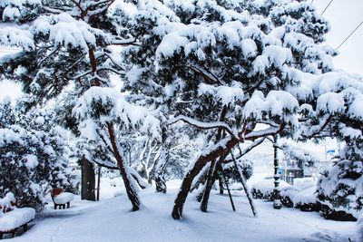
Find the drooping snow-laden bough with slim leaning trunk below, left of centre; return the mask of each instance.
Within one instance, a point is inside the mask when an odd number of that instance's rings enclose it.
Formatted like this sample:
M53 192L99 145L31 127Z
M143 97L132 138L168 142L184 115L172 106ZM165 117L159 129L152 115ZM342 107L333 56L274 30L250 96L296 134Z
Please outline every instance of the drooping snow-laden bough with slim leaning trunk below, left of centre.
M92 87L84 92L74 107L74 116L81 121L79 129L84 138L99 140L113 153L132 202L132 210L138 210L141 200L117 135L120 131L137 129L160 139L160 121L147 109L126 102L121 92L106 87Z

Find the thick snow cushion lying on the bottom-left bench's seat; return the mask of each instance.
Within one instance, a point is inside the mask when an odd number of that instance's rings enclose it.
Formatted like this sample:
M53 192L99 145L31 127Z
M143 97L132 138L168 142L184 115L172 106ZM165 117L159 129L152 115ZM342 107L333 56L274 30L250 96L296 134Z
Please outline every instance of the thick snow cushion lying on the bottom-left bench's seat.
M34 219L34 208L15 208L14 210L0 215L0 230L7 231L21 227Z

